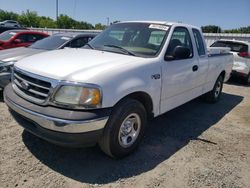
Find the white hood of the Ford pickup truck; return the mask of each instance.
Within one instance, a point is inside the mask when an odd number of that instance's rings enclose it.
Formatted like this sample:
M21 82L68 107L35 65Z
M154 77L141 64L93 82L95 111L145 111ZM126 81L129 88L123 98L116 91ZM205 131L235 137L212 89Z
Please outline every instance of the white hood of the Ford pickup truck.
M62 49L24 58L15 66L57 80L86 81L143 58L92 49Z

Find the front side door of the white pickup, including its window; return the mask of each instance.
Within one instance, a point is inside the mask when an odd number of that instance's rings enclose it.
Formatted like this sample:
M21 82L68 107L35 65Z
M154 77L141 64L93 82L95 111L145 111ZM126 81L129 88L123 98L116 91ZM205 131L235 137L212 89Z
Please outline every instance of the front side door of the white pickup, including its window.
M164 60L162 67L161 113L171 110L195 98L195 81L198 60L194 57L190 31L176 27L171 36L165 56L171 56L177 46L190 50L186 59Z

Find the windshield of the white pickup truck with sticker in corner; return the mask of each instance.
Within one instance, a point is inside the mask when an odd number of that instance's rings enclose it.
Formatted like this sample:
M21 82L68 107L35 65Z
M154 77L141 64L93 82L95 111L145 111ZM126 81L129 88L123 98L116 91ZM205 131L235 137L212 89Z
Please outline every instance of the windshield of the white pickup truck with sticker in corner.
M149 23L113 24L91 40L89 47L135 56L156 56L169 26Z

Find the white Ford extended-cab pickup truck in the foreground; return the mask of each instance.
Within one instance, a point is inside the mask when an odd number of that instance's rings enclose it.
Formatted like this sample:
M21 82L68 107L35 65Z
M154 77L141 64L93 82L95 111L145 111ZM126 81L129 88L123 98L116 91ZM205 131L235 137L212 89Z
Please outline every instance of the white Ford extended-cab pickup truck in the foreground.
M230 53L208 54L197 27L122 22L84 48L20 60L4 100L32 134L64 146L98 143L119 158L138 146L148 119L201 95L217 102L232 65Z

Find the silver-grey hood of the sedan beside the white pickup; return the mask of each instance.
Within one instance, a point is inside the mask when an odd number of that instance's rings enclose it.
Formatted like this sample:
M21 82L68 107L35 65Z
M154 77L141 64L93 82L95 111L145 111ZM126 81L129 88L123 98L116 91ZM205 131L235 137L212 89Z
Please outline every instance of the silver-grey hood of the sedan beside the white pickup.
M45 50L25 47L6 49L0 51L0 61L18 61L24 57L31 56L44 51Z

